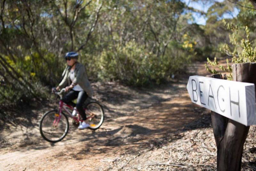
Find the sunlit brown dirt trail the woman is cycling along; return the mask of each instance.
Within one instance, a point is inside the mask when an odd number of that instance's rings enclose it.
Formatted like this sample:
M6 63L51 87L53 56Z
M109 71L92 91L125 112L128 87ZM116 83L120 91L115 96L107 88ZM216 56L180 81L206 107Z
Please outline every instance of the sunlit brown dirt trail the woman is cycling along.
M191 75L208 74L204 63L188 69ZM146 162L142 154L169 143L167 137L180 138L175 132L199 120L205 111L191 103L187 80L188 76L153 89L95 83L95 98L105 109L103 125L92 131L70 124L68 135L56 144L44 141L38 130L38 120L53 105L25 110L34 117L0 132L0 170L132 170L127 166L133 159Z

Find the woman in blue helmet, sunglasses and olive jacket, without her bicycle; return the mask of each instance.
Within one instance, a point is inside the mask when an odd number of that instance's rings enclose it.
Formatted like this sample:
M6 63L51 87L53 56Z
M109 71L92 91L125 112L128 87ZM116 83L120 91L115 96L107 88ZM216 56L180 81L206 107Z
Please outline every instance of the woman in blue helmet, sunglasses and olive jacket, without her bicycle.
M86 115L83 109L84 101L87 97L92 97L93 91L90 82L87 78L85 67L83 64L77 62L78 53L68 52L64 56L67 60L67 66L62 73L63 80L60 82L56 90L64 88L65 92L71 89L68 94L62 98L62 101L68 105L76 107L77 111L83 118L78 126L79 129L88 128L90 125L86 122ZM77 98L77 103L73 103L72 100Z

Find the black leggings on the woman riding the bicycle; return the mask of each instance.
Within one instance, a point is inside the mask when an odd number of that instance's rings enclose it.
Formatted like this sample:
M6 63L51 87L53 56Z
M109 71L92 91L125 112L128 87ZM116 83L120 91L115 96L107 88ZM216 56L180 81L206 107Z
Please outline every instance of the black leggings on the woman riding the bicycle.
M73 107L76 106L77 111L82 116L83 120L86 120L86 115L83 109L84 101L87 99L88 95L85 91L75 91L71 90L68 92L68 94L62 98L62 101L68 105L71 105ZM72 102L72 100L77 98L76 104Z

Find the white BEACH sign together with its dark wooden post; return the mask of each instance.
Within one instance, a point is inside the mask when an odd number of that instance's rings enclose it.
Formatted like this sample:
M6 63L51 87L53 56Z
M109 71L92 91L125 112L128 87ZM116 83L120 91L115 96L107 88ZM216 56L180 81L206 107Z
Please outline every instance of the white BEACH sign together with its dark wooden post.
M241 170L244 143L250 128L248 125L255 125L253 84L256 83L256 63L234 64L232 70L233 81L236 82L220 80L221 74L214 74L208 76L211 77L208 79L193 77L193 82L191 77L191 83L188 82L187 86L192 102L212 110L218 171ZM248 83L237 84L238 82ZM203 84L206 85L205 88L201 88Z

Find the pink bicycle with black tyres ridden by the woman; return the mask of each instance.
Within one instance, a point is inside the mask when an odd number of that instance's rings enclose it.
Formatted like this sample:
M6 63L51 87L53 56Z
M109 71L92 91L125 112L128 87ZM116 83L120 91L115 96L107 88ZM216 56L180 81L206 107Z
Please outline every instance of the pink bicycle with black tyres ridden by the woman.
M54 92L60 96L58 110L45 112L39 123L41 136L51 143L61 141L68 134L69 122L67 115L63 113L63 109L72 118L72 123L76 127L83 121L75 108L61 101L64 91L65 89L61 89L59 92ZM71 111L76 110L77 114L73 116L68 109ZM96 130L100 128L104 120L102 106L98 102L89 102L85 105L84 110L86 116L88 116L89 129Z

